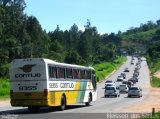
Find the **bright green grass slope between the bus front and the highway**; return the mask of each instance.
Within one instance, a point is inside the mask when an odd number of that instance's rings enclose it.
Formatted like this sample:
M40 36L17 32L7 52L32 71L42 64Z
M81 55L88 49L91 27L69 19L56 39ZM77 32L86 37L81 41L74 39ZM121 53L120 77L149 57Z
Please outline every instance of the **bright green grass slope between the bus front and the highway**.
M103 62L100 64L94 64L93 67L96 70L97 81L99 82L104 80L106 76L108 76L110 73L116 70L125 61L126 57L119 57L113 62Z

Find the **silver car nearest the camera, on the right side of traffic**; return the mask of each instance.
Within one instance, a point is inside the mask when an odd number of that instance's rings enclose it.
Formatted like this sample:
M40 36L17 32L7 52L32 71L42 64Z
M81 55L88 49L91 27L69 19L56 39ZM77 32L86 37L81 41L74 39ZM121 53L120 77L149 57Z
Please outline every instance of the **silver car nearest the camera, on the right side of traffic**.
M140 87L130 87L128 90L128 97L132 96L142 97L142 89Z

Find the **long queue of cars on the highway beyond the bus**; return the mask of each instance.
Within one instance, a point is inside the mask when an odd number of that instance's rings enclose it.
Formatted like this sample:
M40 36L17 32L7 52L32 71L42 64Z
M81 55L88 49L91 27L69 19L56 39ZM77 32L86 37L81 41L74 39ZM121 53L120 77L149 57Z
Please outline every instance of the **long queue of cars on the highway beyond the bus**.
M131 65L134 65L135 57L131 59ZM128 97L138 96L142 97L142 89L134 86L139 81L139 70L141 68L141 58L138 57L138 62L133 73L132 78L126 79L126 73L130 72L129 68L126 67L124 71L117 77L117 82L122 82L119 86L116 86L115 81L107 80L105 82L104 97L115 96L119 97L122 93L127 93Z

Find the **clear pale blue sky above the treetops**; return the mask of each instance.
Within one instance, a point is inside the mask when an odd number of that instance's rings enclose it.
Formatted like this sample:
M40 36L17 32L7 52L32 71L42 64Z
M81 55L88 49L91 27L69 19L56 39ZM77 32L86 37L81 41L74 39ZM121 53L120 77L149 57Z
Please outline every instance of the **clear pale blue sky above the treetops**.
M160 0L25 0L25 13L35 16L43 29L84 29L87 19L99 33L125 32L141 23L160 19Z

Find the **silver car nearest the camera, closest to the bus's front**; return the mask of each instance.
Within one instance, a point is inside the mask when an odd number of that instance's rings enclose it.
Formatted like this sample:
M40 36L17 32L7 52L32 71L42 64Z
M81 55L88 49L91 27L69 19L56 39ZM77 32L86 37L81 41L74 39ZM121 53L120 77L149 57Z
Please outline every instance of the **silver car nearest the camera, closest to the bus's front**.
M109 97L109 96L115 96L115 97L120 96L119 91L116 90L116 87L114 86L105 87L104 97Z

